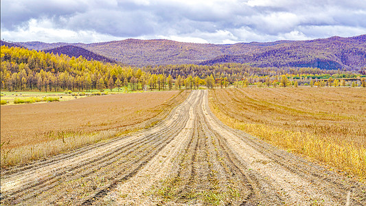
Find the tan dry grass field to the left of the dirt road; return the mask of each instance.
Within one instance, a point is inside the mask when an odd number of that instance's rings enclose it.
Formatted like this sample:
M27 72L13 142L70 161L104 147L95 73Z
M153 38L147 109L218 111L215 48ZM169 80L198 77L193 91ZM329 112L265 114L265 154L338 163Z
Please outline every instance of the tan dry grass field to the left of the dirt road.
M1 167L151 126L186 96L165 91L1 106Z

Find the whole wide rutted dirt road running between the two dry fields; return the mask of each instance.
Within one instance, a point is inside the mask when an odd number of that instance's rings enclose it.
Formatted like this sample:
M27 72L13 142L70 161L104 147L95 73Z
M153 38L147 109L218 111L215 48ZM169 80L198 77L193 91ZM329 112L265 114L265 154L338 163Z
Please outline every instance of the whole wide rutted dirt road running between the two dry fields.
M192 91L152 128L1 171L1 205L366 205L366 187L233 130Z

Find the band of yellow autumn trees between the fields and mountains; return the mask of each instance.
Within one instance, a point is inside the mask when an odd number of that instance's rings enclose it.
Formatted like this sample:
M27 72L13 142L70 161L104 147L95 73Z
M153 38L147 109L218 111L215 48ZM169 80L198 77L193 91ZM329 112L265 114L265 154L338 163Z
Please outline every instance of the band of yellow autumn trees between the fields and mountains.
M301 81L361 78L358 72L314 68L256 68L223 65L163 65L130 67L20 47L1 47L1 89L8 91L90 91L130 87L138 90L247 87L249 84L288 87ZM288 82L282 82L286 78ZM297 82L297 83L295 83ZM314 83L315 84L315 83ZM362 84L362 83L361 83ZM332 84L330 84L332 85Z

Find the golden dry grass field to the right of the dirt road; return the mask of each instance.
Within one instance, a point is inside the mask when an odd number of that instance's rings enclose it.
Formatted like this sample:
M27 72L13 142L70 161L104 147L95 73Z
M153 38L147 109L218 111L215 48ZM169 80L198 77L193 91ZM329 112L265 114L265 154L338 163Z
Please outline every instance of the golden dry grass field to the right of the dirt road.
M366 179L366 89L216 89L225 124Z

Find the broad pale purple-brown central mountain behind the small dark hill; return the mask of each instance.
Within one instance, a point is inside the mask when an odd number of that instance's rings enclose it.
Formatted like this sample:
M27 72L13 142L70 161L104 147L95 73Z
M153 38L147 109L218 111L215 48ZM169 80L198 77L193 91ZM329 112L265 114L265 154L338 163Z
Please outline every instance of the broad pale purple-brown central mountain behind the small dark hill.
M263 47L260 43L237 43L233 45L215 45L198 43L181 43L177 41L156 39L126 39L103 43L41 43L19 42L30 49L45 50L62 45L73 45L87 49L95 54L106 56L112 60L128 65L181 65L198 64L222 54L246 54ZM271 43L273 44L273 43Z

